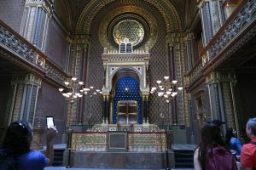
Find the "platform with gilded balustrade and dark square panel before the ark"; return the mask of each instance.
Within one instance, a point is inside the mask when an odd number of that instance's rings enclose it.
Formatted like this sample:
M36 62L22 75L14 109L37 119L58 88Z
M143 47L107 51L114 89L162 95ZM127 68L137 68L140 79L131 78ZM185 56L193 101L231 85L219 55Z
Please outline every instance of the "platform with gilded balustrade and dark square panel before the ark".
M71 152L64 153L64 165L71 167L161 169L165 167L166 133L155 125L95 126L91 132L71 134ZM116 128L113 128L116 127ZM125 131L120 130L125 127ZM134 130L136 127L137 131ZM104 129L105 131L102 131ZM112 131L109 131L112 129ZM115 130L113 130L115 129ZM127 129L131 131L126 131ZM147 163L145 163L147 162Z

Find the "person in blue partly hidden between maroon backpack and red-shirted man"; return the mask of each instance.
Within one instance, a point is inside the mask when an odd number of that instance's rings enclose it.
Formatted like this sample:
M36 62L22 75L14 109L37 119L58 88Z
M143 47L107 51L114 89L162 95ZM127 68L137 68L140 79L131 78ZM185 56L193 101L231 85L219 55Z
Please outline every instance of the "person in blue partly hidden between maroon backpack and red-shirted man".
M226 130L225 143L229 146L230 151L234 156L240 156L242 144L241 141L235 137L232 128Z

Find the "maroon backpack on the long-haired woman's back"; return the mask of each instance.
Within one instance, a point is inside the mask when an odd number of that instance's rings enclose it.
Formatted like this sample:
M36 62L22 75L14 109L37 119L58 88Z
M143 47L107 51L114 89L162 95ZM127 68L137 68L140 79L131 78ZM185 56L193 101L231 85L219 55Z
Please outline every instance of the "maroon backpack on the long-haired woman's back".
M223 146L212 147L206 162L207 170L237 170L234 156Z

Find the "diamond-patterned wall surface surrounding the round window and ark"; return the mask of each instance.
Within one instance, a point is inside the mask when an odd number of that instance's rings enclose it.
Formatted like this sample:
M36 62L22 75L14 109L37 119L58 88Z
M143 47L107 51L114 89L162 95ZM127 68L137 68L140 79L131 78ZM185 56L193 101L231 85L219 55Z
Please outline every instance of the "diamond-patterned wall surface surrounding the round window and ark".
M128 1L127 1L128 2ZM128 3L132 3L133 1L129 1ZM125 2L121 2L124 3ZM127 3L127 4L128 4ZM133 2L134 3L134 2ZM102 22L102 18L104 15L108 14L113 8L117 8L116 5L118 3L113 3L113 6L108 6L103 8L102 11L96 16L93 22L93 26L91 26L91 42L90 42L90 59L89 59L89 68L88 68L88 85L94 85L98 88L102 88L103 85L103 65L101 54L103 53L103 47L98 40L98 29L100 23ZM156 10L149 3L145 2L136 2L136 5L142 8L147 8L148 11L151 11L155 20L158 21L158 37L157 42L154 44L154 47L150 49L151 59L149 61L149 78L150 78L150 86L154 86L155 81L166 76L167 74L167 59L166 59L166 26L163 18L160 16L159 11ZM168 116L168 106L166 105L163 99L157 97L157 95L153 94L149 96L149 122L150 123L160 123L162 120L160 119L160 111L166 117L166 122L170 122L170 116ZM88 106L85 106L88 107ZM98 100L94 100L92 104L93 111L95 113L92 115L92 123L102 122L102 98L98 98ZM171 109L170 109L171 111ZM85 111L86 112L86 111Z

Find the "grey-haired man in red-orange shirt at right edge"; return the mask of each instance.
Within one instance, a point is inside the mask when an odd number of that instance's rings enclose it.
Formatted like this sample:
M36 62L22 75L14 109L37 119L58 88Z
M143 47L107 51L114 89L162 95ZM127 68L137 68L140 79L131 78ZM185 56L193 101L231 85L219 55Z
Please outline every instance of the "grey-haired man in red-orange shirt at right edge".
M252 170L256 169L256 117L248 120L246 132L251 140L243 144L240 161L244 170Z

